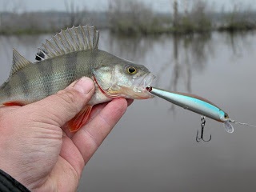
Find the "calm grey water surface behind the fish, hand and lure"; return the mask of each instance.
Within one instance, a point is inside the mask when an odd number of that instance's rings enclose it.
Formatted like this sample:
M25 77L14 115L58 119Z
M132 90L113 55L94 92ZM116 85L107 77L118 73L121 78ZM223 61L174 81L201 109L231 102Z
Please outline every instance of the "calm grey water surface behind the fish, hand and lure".
M8 78L12 49L34 61L50 35L0 36L0 82ZM241 122L256 125L256 37L218 34L158 38L112 37L99 48L147 66L153 85L208 98ZM206 118L206 139L196 142L201 117L154 98L135 101L94 154L78 191L252 191L256 187L256 129Z

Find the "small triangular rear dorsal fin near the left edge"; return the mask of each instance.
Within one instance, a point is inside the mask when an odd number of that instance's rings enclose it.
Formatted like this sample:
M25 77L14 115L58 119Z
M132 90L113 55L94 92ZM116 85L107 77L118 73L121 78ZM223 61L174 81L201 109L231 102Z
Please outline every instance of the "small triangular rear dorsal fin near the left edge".
M13 49L13 66L10 70L10 76L15 74L18 70L22 70L25 66L32 64L32 62L26 60L17 50Z

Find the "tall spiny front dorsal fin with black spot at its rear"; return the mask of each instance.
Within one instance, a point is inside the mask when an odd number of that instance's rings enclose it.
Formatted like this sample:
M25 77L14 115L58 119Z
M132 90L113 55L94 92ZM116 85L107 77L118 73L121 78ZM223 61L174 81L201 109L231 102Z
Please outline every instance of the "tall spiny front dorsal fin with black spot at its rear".
M36 59L42 61L78 50L98 49L98 38L99 32L94 26L73 26L61 30L38 48Z

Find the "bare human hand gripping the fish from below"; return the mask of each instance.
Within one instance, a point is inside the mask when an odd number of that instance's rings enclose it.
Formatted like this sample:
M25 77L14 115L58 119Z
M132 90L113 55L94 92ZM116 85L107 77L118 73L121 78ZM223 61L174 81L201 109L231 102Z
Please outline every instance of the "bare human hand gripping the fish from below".
M114 98L95 106L78 132L63 130L93 94L94 82L81 78L41 101L1 106L0 169L32 191L75 191L83 167L132 102Z

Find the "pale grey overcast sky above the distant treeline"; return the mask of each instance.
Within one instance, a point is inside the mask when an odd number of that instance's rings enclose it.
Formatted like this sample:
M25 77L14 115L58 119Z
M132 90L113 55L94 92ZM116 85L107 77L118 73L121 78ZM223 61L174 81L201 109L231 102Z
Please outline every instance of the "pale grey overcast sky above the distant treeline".
M106 10L109 0L0 0L0 11L19 10L19 11L44 11L44 10L66 10L65 2L74 1L78 7L86 7L87 10ZM110 0L111 1L111 0ZM171 2L174 0L140 0L145 2L154 10L170 12ZM182 4L186 0L178 0ZM196 0L187 0L194 2ZM215 10L233 10L234 5L243 9L255 10L255 0L206 0L208 6Z

